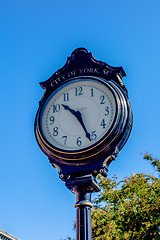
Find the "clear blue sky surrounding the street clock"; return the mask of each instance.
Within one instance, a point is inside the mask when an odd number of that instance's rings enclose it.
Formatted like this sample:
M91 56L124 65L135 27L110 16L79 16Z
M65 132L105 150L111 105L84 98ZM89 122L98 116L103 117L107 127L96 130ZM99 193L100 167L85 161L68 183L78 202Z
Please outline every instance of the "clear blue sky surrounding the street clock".
M77 47L122 66L132 134L109 177L152 173L140 152L160 157L159 0L1 0L0 228L21 240L75 236L75 196L34 137L39 82Z

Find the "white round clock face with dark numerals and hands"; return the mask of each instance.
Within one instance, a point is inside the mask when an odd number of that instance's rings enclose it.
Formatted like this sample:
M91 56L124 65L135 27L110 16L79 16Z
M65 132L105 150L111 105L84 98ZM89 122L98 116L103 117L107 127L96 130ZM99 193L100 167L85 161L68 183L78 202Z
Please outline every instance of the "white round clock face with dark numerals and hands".
M40 129L60 150L92 147L109 132L116 116L115 96L107 83L77 78L56 89L40 112Z

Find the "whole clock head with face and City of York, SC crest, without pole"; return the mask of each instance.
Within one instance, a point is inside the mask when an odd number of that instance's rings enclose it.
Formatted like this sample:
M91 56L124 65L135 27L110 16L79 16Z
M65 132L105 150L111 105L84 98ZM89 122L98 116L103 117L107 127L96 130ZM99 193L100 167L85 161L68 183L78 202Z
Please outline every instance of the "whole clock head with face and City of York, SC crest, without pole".
M132 109L122 67L97 61L76 49L47 81L35 120L42 151L60 177L105 174L127 141Z

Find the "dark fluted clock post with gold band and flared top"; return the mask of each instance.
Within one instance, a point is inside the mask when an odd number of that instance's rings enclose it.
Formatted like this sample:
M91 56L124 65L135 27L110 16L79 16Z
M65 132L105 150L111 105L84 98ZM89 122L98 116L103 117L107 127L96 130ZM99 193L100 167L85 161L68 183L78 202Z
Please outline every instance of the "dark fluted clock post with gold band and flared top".
M92 240L91 194L101 188L92 174L71 177L67 179L66 187L76 194L76 240Z

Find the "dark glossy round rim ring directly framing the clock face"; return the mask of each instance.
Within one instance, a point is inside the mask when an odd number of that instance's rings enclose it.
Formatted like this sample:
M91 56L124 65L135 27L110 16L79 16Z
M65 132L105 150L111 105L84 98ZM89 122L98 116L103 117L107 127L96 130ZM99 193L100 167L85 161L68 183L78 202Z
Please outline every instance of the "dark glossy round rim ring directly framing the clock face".
M92 79L92 80L101 82L102 84L104 84L106 87L109 88L109 90L111 91L115 99L116 114L115 114L113 123L109 128L109 130L107 131L107 133L101 139L99 139L96 143L94 143L89 147L82 148L80 150L62 150L53 146L51 143L49 143L41 131L41 127L40 127L41 113L46 101L51 96L53 91L46 94L46 96L43 98L40 104L40 107L36 116L35 133L36 133L37 142L40 148L42 149L42 151L50 159L52 159L55 162L60 162L64 164L70 163L72 165L85 164L86 160L87 162L95 161L99 157L102 157L104 153L106 154L106 152L108 152L109 154L110 152L112 152L113 148L117 144L116 137L119 133L119 129L121 128L123 122L126 122L126 120L125 121L124 119L122 120L122 116L126 114L123 113L124 108L122 107L123 104L121 102L122 98L120 97L119 89L112 81L107 81L106 79L103 79L100 77L94 77L94 76L79 76L79 77L70 78L64 81L63 83L59 84L58 87L56 88L56 91L58 90L58 88L63 87L63 85L66 83L69 83L73 80L81 81L82 79L88 79L88 80Z

